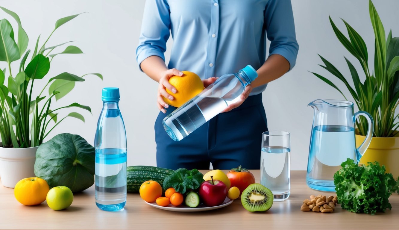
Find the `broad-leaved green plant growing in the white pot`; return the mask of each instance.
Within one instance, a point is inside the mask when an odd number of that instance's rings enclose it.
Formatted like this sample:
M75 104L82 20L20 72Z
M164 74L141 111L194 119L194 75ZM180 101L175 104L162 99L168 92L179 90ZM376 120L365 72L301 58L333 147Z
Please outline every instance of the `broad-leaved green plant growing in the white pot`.
M61 99L67 95L75 82L85 81L84 76L91 74L103 79L99 73L88 73L81 77L63 72L59 75L49 78L45 87L39 95L34 97L32 89L35 80L44 80L50 69L50 63L58 54L82 54L83 52L76 46L67 46L61 53L52 54L53 50L69 42L56 46L46 47L51 35L63 24L69 22L79 14L61 18L55 22L55 28L39 46L40 36L36 41L34 52L31 54L28 48L28 35L22 28L19 16L6 8L0 8L12 16L18 24L18 36L14 37L14 29L6 19L0 20L0 61L7 64L7 68L0 70L0 136L3 147L26 148L39 146L43 139L66 117L75 117L85 121L84 117L76 112L71 112L65 117L58 119L59 111L68 107L77 107L91 112L89 106L79 103L52 109L52 101ZM31 54L31 56L30 56ZM26 64L28 57L30 62ZM51 59L50 59L51 58ZM11 63L20 59L18 69L12 69ZM8 71L7 71L8 70ZM6 72L8 79L6 81ZM14 74L13 74L14 73ZM16 73L16 74L15 74ZM48 86L49 95L42 95ZM53 121L53 127L48 127Z

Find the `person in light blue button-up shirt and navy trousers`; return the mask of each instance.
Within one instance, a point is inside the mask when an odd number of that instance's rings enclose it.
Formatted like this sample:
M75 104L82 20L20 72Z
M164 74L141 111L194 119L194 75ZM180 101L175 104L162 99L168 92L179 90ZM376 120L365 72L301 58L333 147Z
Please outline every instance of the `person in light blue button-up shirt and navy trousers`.
M164 52L170 34L173 46L168 66ZM266 58L266 39L271 41ZM136 60L141 71L159 82L155 121L156 163L168 169L260 168L262 133L267 119L262 92L267 83L295 65L298 54L290 0L147 0ZM196 129L173 141L162 119L176 107L166 104L168 81L181 70L197 73L203 84L246 65L258 73L240 101Z

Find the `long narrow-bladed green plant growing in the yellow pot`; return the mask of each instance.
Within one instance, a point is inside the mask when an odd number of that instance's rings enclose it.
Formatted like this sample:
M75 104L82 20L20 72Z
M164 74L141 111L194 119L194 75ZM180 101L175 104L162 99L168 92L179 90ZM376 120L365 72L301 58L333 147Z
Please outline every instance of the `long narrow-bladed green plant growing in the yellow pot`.
M360 74L346 57L344 58L352 75L354 88L334 65L319 55L324 63L320 66L344 82L359 110L370 113L374 119L374 137L394 137L398 134L397 128L399 127L399 115L395 113L399 104L399 38L392 38L392 31L385 38L384 27L371 0L369 1L369 12L375 35L374 72L369 70L368 52L363 38L342 19L349 35L349 39L346 38L331 17L330 23L334 33L342 45L359 60L365 80L363 83L361 82ZM344 93L332 81L320 74L313 74L337 89L345 97ZM367 121L360 119L356 123L359 134L366 135Z

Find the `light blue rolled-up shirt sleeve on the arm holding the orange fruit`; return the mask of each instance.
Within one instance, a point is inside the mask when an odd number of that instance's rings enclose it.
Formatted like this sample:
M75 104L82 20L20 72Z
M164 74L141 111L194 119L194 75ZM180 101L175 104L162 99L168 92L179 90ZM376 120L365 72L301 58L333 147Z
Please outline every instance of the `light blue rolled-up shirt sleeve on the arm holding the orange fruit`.
M146 0L136 61L140 64L149 56L165 60L166 41L170 35L170 10L166 0Z

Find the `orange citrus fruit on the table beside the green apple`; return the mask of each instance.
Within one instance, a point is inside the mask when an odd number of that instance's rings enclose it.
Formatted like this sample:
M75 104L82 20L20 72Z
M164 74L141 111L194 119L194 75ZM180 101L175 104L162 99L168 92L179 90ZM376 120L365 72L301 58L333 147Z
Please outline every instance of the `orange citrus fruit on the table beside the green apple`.
M18 181L14 188L14 196L21 204L38 205L46 200L49 190L49 185L45 180L29 177Z

